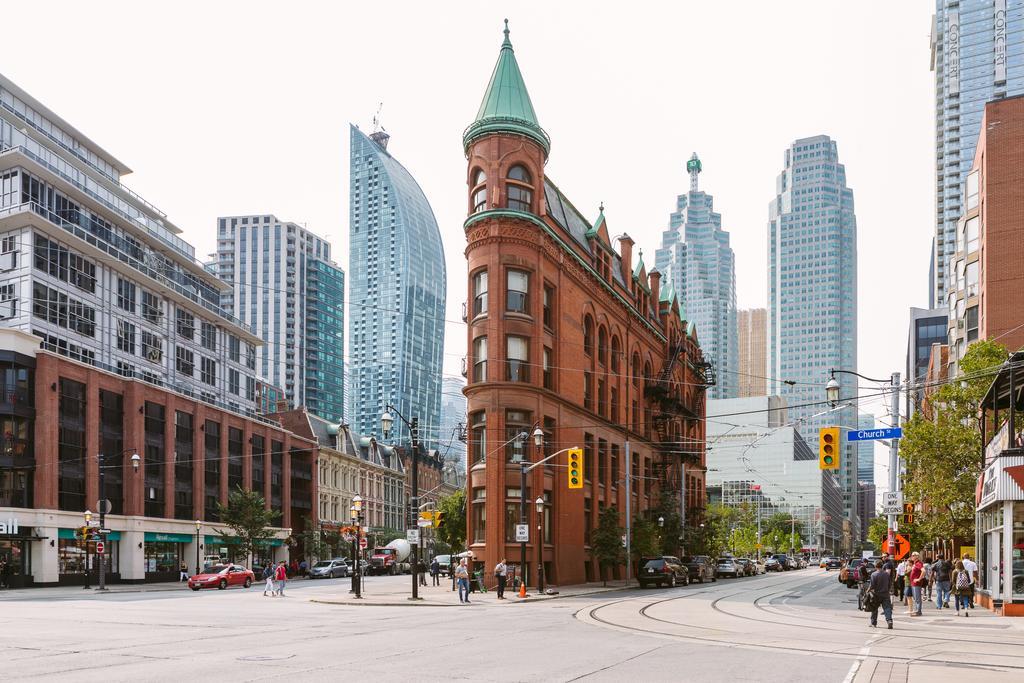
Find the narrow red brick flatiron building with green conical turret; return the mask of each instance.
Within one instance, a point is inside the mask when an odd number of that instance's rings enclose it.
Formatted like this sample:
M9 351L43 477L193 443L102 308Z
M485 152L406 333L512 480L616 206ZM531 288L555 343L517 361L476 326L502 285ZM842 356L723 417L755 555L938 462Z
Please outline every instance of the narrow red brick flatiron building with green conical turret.
M709 366L675 293L634 258L633 241L622 236L616 251L603 207L587 220L545 176L550 141L507 28L463 140L468 545L488 572L502 557L518 563L520 457L581 446L583 488L567 487L564 454L528 475L527 580L536 581L541 552L547 581L595 581L589 540L604 508L616 506L625 526L628 507L643 515L664 490L687 522L698 521ZM515 436L537 428L542 449L532 437L517 449Z

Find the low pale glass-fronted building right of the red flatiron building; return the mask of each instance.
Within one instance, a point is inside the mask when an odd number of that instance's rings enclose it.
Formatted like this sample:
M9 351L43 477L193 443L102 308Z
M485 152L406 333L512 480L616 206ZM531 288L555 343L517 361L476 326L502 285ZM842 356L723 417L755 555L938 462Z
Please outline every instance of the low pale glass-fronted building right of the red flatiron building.
M792 514L804 528L802 549L817 555L843 546L843 497L836 477L792 423L778 396L708 402L709 415L742 415L742 425L708 422L708 500L760 508L761 518Z

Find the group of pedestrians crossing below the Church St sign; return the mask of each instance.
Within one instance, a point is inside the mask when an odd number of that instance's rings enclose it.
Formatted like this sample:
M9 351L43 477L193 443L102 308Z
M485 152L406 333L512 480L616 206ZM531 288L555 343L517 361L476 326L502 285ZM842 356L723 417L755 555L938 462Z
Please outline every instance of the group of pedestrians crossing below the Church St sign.
M944 557L923 557L921 553L910 553L910 557L896 562L888 553L870 566L864 562L861 567L861 582L865 582L862 605L871 613L870 625L878 626L881 609L888 628L893 628L893 598L905 603L907 616L922 616L925 601L931 602L935 596L936 609L948 609L949 598L953 598L956 615L964 608L964 616L974 609L974 589L978 565L970 555L950 562Z

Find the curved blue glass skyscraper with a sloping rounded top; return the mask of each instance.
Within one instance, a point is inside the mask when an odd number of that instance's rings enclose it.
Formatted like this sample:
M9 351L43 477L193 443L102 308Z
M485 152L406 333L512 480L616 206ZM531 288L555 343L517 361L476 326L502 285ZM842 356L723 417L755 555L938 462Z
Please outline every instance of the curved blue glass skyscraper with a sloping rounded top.
M440 425L446 275L440 230L388 135L350 126L349 421L379 434L390 403L436 443ZM409 440L395 416L391 438Z

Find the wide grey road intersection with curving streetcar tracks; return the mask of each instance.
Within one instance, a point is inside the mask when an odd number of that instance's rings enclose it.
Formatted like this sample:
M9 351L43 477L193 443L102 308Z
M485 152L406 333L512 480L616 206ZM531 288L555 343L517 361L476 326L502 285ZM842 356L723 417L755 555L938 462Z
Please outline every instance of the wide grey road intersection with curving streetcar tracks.
M311 602L347 581L261 590L0 595L0 679L72 681L1021 680L1024 624L978 611L867 627L819 569L536 603L370 607ZM374 578L375 587L409 579ZM445 589L426 589L439 591Z

